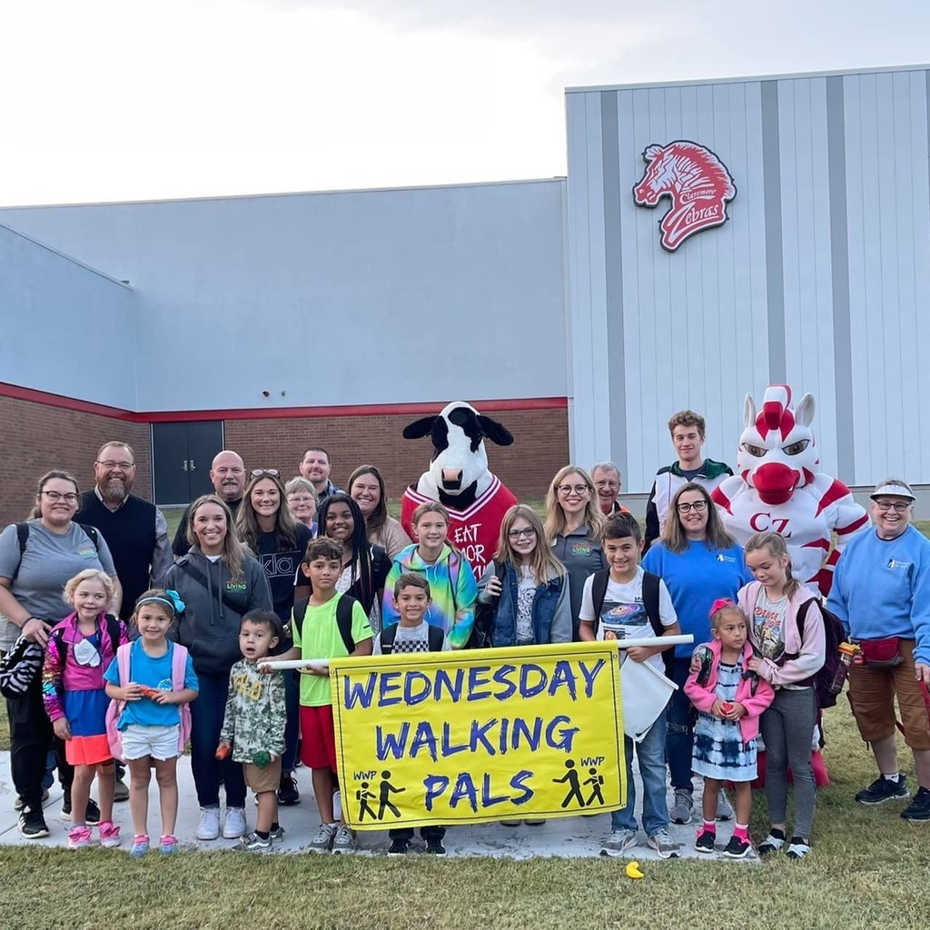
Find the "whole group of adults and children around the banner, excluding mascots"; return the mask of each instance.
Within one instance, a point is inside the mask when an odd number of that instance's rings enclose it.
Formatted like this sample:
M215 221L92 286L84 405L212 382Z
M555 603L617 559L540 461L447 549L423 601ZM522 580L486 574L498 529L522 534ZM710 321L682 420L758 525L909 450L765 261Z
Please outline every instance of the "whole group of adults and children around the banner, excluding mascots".
M130 852L148 852L154 769L158 846L173 853L175 766L189 733L198 839L221 833L242 849L272 848L283 835L278 805L299 803L293 772L302 763L312 770L322 821L311 848L351 852L326 669L272 671L270 659L684 632L697 648L621 650L625 661L649 663L678 687L639 741L626 738L627 803L611 815L603 852L622 855L637 842L635 754L646 842L659 856L676 855L672 821L696 819L696 848L710 852L717 821L734 813L724 855L747 855L761 737L770 829L758 851L803 858L816 802L811 742L827 619L817 596L792 577L783 538L756 534L741 547L726 532L711 491L730 470L702 457L703 419L682 411L669 429L677 458L657 474L645 538L618 503L616 466L602 462L589 474L568 465L551 481L544 519L521 504L505 513L481 578L447 538L441 503L419 506L411 539L388 513L379 470L355 469L343 492L320 448L307 450L289 481L220 452L210 471L214 493L193 501L173 543L161 512L131 494L136 465L125 443L100 448L95 486L83 496L73 475L47 472L31 519L0 534L7 669L30 647L44 651L42 673L7 692L20 833L48 834L42 804L51 749L70 846L89 844L94 825L101 844L119 845L113 801L127 795ZM930 819L930 542L910 525L913 500L903 481L876 487L874 527L844 551L829 609L860 644L850 698L880 769L857 801L910 797L895 751L897 697L918 781L902 817L923 821ZM483 622L475 623L476 613ZM128 765L128 791L114 770L117 755ZM90 798L95 776L100 805ZM695 777L704 785L697 812ZM255 830L247 827L248 788L258 798ZM445 852L444 835L425 831L428 852ZM411 838L410 830L393 830L392 853L405 853Z

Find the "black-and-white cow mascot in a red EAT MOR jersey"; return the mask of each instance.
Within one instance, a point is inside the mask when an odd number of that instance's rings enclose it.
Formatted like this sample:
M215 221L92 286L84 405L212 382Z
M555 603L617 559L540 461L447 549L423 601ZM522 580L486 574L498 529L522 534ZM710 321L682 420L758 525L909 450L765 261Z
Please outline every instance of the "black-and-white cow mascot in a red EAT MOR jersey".
M511 433L463 401L445 405L438 417L423 417L404 430L405 439L432 439L429 471L410 485L401 501L401 524L410 538L413 512L438 500L449 512L449 541L468 559L475 578L498 548L500 521L516 502L509 488L487 467L485 439L511 445Z

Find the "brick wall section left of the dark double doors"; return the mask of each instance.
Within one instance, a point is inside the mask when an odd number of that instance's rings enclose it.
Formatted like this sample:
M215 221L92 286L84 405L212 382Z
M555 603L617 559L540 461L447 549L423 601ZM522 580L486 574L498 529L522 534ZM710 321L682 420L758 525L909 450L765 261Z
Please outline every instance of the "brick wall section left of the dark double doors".
M0 528L26 518L36 482L50 469L72 472L82 491L93 486L97 450L112 439L133 447L133 493L151 498L148 424L0 397Z

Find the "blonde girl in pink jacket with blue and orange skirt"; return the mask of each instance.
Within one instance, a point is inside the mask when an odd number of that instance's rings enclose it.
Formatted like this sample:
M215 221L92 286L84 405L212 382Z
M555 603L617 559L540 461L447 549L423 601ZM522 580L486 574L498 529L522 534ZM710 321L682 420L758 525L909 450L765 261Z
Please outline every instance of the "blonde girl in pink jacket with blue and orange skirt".
M113 755L106 731L110 701L103 690L103 671L117 647L128 642L126 624L107 614L113 580L100 569L79 572L65 584L62 597L74 612L48 637L42 695L55 736L65 740L65 758L74 766L68 848L90 845L86 812L95 775L100 789L100 845L118 846L119 827L113 824Z

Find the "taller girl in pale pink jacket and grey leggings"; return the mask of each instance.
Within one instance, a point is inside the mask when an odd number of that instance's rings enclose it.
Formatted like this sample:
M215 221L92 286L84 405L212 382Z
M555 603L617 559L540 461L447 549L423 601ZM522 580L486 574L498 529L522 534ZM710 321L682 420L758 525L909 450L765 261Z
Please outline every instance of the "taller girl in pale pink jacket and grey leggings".
M804 858L811 848L816 787L811 767L811 735L817 723L813 675L823 666L826 635L817 598L791 575L785 540L777 533L756 533L745 546L746 564L755 581L739 590L739 606L750 618L754 656L749 667L775 688L764 712L765 796L771 830L759 846L763 856L785 845L787 770L794 775L794 830L787 855ZM798 614L805 609L804 634Z

